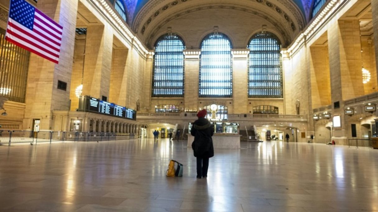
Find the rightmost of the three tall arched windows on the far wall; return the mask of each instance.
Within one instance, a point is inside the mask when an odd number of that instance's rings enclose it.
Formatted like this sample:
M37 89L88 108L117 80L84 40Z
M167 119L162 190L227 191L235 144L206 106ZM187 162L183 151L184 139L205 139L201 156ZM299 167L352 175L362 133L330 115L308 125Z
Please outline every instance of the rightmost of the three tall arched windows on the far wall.
M248 97L282 98L280 41L271 32L259 32L249 41Z

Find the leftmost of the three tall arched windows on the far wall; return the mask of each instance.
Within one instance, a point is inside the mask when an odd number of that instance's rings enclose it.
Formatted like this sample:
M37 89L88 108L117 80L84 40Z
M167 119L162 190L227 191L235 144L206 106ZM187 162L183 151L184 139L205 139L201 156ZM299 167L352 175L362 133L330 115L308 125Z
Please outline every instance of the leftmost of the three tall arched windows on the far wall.
M176 34L161 36L153 56L152 97L184 96L184 41Z

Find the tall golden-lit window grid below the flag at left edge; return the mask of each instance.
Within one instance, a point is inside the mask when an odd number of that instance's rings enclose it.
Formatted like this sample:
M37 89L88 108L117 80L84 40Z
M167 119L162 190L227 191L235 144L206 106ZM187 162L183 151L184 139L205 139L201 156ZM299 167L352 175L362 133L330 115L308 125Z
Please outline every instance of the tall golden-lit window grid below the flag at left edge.
M0 29L0 95L25 103L30 53L4 37L5 30Z

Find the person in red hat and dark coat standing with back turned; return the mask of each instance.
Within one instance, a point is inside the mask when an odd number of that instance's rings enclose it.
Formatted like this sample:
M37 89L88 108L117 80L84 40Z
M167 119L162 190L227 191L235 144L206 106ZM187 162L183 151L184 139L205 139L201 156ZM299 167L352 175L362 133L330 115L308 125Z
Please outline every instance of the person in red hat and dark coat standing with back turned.
M197 178L208 176L209 158L214 156L212 135L214 128L206 117L207 111L203 109L197 113L198 119L194 121L191 135L194 136L192 149L194 157L197 158Z

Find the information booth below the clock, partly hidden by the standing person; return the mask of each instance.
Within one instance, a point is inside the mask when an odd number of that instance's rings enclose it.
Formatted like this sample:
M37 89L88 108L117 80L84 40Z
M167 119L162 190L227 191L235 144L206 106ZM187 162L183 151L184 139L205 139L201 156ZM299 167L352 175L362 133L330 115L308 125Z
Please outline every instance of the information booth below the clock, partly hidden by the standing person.
M210 122L214 126L214 135L212 136L214 149L240 149L239 123L228 121ZM194 136L190 134L192 123L188 127L187 146L191 147Z

